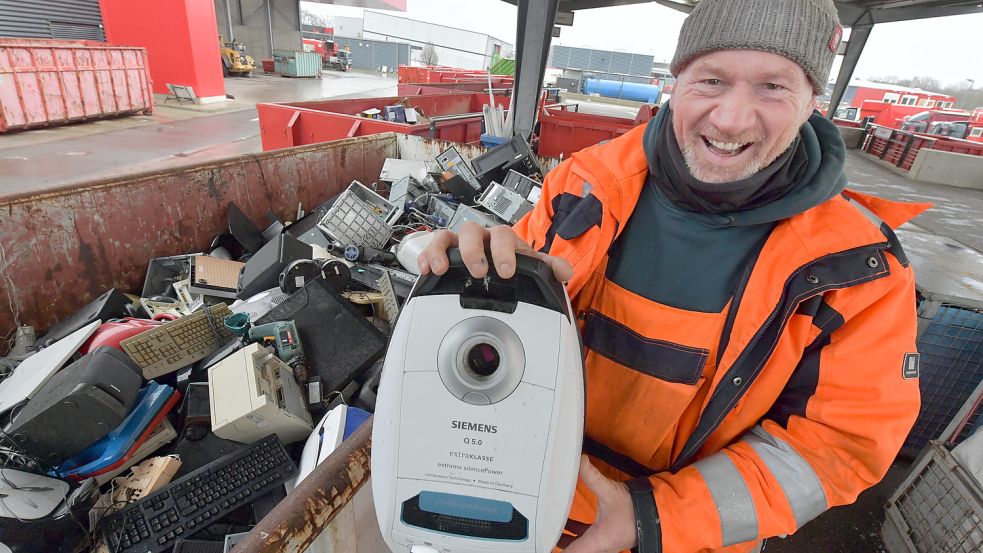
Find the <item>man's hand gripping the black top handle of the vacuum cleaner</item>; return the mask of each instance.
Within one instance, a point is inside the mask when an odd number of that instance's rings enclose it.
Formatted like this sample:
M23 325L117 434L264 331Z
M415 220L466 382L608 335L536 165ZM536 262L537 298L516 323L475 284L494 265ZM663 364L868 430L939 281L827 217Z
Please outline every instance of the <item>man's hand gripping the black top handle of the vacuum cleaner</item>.
M434 273L442 275L447 272L447 249L457 247L461 250L461 258L468 266L468 272L475 278L488 274L489 260L485 259L485 247L490 246L492 262L495 270L502 278L512 278L515 274L515 254L523 253L538 257L549 263L553 275L560 282L566 282L573 277L573 269L565 259L552 257L532 249L512 230L512 227L500 225L485 229L476 223L467 222L461 225L461 234L442 230L434 236L430 244L420 253L417 263L420 274Z

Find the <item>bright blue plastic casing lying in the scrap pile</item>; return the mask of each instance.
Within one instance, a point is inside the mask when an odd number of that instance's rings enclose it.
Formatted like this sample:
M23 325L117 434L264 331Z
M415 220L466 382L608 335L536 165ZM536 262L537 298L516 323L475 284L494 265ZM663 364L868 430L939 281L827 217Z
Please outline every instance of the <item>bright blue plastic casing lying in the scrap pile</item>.
M119 461L133 446L137 438L167 405L174 394L174 388L166 384L150 381L140 389L136 405L122 424L98 442L67 459L55 474L60 478L70 478L92 474Z

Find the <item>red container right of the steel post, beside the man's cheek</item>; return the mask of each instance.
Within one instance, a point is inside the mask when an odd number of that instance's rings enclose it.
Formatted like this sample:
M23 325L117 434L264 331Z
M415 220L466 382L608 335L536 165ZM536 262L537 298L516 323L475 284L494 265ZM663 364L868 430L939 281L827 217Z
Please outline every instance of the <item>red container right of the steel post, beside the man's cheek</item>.
M540 112L540 156L569 157L574 152L619 137L647 123L659 111L658 106L645 105L638 110L635 119L627 119L580 113L566 108L546 108Z

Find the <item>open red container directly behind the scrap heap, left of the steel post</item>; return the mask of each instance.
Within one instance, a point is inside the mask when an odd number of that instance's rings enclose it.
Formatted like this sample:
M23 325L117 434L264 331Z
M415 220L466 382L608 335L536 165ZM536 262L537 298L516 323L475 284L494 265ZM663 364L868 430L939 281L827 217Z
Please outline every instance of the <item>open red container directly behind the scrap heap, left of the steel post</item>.
M256 111L259 113L260 138L264 151L384 132L475 144L481 139L484 121L481 108L488 105L488 102L488 94L485 93L449 92L391 98L257 104ZM496 96L495 103L507 109L509 98ZM386 106L396 104L416 108L421 115L420 122L411 125L358 116L372 108L385 112Z

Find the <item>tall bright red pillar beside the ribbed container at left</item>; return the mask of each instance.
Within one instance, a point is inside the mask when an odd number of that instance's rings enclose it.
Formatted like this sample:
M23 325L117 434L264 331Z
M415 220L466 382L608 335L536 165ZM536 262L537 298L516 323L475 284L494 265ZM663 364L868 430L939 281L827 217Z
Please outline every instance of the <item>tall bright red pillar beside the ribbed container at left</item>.
M154 92L191 86L206 101L225 98L215 3L211 0L99 0L106 40L143 46Z

